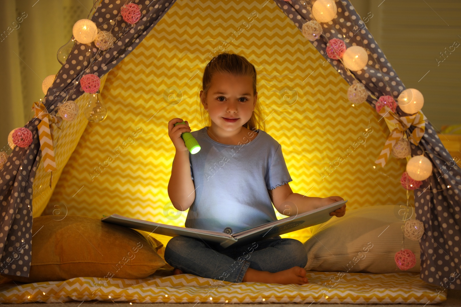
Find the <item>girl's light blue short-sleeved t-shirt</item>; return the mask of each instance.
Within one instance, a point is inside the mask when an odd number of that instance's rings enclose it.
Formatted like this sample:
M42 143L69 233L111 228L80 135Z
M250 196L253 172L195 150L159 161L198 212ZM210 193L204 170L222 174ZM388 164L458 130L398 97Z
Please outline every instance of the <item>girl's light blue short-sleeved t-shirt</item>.
M231 227L235 233L277 220L267 190L293 181L282 146L260 129L249 131L239 145L222 144L207 128L191 132L201 150L189 152L195 200L184 226L216 232Z

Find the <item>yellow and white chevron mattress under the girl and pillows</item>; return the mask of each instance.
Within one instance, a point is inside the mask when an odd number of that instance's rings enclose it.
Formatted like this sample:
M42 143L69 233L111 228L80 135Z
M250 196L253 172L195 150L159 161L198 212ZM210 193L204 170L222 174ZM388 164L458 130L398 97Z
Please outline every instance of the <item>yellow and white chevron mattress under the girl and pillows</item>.
M104 284L100 278L94 277L33 284L4 278L0 281L0 303L96 300L133 303L437 304L447 299L446 289L427 284L418 273L307 271L306 277L309 284L305 285L230 283L192 274L154 275L144 279L109 278Z

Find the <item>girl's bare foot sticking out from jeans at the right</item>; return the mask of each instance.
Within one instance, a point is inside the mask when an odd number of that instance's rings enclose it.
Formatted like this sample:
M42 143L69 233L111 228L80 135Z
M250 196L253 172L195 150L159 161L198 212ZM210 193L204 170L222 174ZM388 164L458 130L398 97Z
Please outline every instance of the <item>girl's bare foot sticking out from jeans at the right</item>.
M267 284L308 284L305 276L306 270L301 266L293 266L288 270L275 273L258 271L249 267L242 281L256 281Z

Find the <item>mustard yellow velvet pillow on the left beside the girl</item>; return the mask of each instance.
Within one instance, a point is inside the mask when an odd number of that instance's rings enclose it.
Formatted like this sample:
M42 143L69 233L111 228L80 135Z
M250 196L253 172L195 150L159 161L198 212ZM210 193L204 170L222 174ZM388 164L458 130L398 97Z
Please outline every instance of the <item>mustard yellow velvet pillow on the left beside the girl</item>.
M157 254L163 244L134 229L99 219L67 215L33 219L30 275L3 276L22 283L76 277L146 278L165 261Z

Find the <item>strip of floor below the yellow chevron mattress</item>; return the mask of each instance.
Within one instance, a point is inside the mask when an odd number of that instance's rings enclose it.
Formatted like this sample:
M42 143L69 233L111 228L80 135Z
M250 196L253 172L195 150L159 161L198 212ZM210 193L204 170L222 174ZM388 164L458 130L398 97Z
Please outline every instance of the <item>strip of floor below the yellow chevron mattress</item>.
M1 304L1 306L10 306L10 307L19 307L22 305L28 305L28 307L35 307L35 304L37 306L41 305L53 305L56 307L61 307L61 304L64 304L65 306L62 307L93 307L95 304L97 306L106 306L108 307L109 305L116 307L118 306L123 306L123 307L128 307L128 306L134 306L136 307L194 307L195 305L209 305L208 303L200 303L200 304L192 304L192 303L179 303L179 304L166 304L166 303L154 303L154 304L146 304L146 303L139 303L139 304L133 304L130 305L130 303L125 303L125 302L101 302L101 301L71 301L67 303L26 303L26 304ZM216 305L216 304L215 304ZM226 305L226 304L221 304L221 305ZM235 304L236 307L250 307L250 306L262 306L262 303L257 303L257 304ZM268 304L266 304L268 305ZM300 304L285 304L285 303L280 303L280 304L271 304L274 307L299 307ZM304 304L306 307L312 305L311 304ZM379 304L320 304L319 307L338 307L341 305L341 307L377 307ZM429 304L427 304L429 305ZM423 307L426 306L424 304L389 304L389 305L382 305L383 307ZM461 307L461 290L448 290L448 295L447 295L447 300L440 303L436 304L435 306L437 307Z

